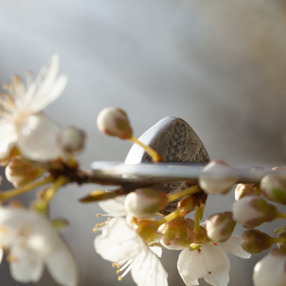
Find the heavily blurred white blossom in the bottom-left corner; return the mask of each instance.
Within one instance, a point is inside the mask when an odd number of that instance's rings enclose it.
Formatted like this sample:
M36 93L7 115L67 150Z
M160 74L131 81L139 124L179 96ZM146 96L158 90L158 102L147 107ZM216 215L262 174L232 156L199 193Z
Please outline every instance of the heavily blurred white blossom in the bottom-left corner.
M0 208L0 250L7 249L11 276L19 282L39 281L44 265L63 286L78 284L76 263L67 245L43 216L26 209Z

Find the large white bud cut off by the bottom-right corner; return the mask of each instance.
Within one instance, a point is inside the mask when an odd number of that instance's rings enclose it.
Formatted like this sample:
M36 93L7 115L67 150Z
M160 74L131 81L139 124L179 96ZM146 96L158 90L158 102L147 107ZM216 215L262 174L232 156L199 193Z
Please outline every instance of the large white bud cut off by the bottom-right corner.
M286 253L273 249L253 269L253 284L255 286L285 286Z

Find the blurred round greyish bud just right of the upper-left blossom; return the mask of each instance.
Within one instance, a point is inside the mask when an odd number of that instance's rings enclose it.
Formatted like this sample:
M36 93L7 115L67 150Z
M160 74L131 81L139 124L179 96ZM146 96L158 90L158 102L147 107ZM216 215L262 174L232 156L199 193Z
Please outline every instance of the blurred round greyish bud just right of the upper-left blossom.
M64 151L76 152L84 146L84 131L70 126L61 131L58 136L59 144Z

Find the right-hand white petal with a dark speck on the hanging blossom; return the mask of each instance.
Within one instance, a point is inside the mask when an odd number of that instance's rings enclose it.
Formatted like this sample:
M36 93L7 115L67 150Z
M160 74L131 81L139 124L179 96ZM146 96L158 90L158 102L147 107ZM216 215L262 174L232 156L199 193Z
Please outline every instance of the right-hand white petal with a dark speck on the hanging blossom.
M207 258L206 264L202 266L206 269L204 280L211 285L227 286L230 263L225 251L219 246L206 243L202 245L201 253Z

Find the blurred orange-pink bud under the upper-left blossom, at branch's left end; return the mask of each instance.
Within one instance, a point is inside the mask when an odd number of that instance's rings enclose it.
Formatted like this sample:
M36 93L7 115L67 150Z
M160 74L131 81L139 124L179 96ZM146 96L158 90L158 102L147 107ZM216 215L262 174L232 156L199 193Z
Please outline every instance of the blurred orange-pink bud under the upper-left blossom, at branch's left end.
M7 180L13 184L15 188L19 188L33 182L41 176L45 170L38 168L30 161L21 156L13 157L5 168Z

